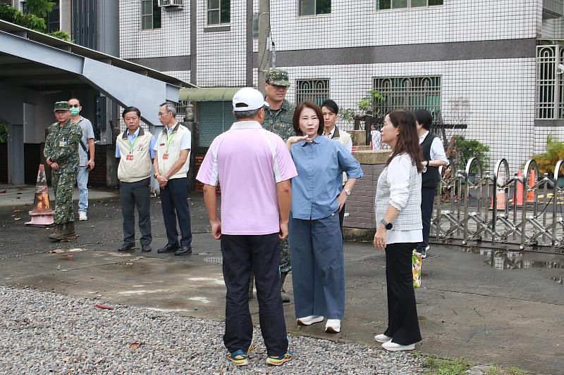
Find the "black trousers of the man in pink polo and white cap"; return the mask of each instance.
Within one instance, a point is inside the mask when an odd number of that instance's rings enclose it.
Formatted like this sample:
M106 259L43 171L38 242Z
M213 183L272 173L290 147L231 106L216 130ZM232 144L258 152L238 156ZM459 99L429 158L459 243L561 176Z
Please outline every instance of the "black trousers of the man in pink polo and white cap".
M259 322L266 351L270 356L288 350L286 320L280 294L280 241L278 233L263 236L221 235L223 279L227 287L225 335L230 352L249 349L252 319L249 310L251 269L259 301Z

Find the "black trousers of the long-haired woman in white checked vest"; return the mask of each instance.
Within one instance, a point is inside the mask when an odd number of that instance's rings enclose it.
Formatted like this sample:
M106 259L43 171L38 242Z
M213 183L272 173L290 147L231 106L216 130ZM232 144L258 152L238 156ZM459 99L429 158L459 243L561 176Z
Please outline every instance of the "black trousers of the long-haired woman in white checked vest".
M415 243L391 243L386 246L388 329L384 334L400 345L421 341L411 265L414 248Z

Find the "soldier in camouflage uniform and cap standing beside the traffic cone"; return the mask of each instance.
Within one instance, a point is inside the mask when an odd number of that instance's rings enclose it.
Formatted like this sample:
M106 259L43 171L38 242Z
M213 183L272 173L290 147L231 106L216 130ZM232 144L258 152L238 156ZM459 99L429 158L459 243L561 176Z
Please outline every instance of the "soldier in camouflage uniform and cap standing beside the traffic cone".
M73 188L78 174L78 143L82 129L71 122L71 106L58 101L54 107L57 122L49 126L44 155L51 167L55 191L55 230L49 239L61 241L76 236L73 212Z

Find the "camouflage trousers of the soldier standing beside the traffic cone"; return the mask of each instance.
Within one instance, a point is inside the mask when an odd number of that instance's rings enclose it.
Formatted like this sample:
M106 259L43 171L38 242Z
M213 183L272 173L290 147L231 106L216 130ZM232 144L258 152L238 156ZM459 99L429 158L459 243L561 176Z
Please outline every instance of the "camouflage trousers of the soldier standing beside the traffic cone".
M77 172L66 170L52 170L51 182L55 191L55 224L73 222L73 189L76 183Z

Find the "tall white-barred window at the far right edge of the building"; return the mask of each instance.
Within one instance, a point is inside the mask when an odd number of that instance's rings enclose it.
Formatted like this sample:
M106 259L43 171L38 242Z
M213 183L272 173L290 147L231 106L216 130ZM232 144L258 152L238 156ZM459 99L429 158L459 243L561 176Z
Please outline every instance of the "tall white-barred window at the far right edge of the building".
M544 120L564 118L564 47L537 46L537 108L535 117Z

